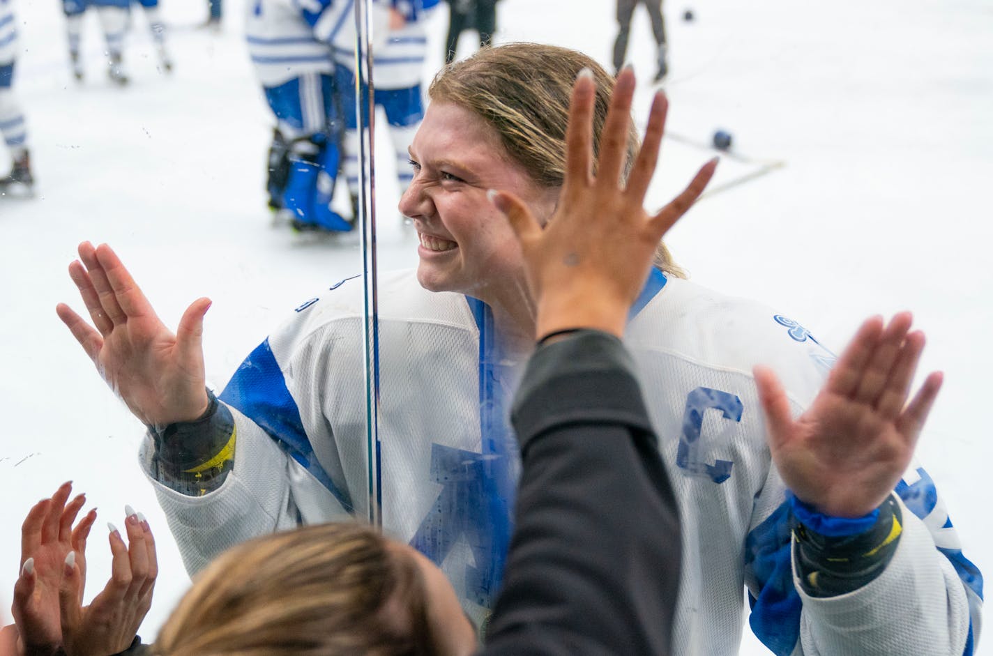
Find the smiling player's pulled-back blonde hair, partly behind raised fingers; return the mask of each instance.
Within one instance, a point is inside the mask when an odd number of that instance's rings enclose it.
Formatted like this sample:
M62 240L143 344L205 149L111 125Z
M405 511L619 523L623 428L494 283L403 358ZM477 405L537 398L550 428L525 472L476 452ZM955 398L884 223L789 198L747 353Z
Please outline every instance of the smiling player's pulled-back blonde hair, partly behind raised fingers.
M442 68L428 87L428 95L434 101L450 102L482 118L497 131L511 161L536 185L556 188L565 180L569 98L576 75L583 68L592 70L597 81L593 114L596 161L614 91L614 77L578 51L528 43L485 48ZM625 180L634 166L639 146L638 130L631 121ZM662 243L655 251L654 264L669 275L684 277Z

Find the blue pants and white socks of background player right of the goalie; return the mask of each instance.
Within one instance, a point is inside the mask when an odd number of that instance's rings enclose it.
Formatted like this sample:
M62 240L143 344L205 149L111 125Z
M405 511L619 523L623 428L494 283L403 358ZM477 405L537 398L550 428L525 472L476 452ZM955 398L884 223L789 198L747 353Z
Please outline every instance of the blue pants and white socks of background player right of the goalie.
M355 115L355 73L344 66L335 70L335 80L342 98L342 112L345 114L345 140L342 148L345 154L345 181L349 193L358 195L358 121ZM362 94L367 94L362 85ZM404 192L414 179L410 170L410 153L407 148L414 139L421 119L424 118L424 104L421 100L421 85L402 89L375 89L373 102L382 107L389 124L389 137L393 142L396 156L396 179L400 192Z

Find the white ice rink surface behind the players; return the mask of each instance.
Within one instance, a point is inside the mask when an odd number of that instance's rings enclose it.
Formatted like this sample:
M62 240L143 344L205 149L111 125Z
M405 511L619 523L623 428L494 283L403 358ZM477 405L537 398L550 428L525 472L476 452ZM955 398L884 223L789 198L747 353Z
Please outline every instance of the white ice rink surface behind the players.
M24 515L72 479L87 507L99 508L95 537L104 521L119 525L125 503L156 530L162 574L148 638L188 579L135 461L141 426L56 317L62 301L81 310L67 274L76 244L114 246L171 326L196 298L213 299L205 350L218 388L300 302L360 268L355 235L315 238L272 225L263 195L272 120L248 63L241 0L225 0L219 33L193 27L206 18L206 0L162 2L174 72L157 68L136 5L125 56L132 83L117 88L95 17L83 39L87 76L76 83L58 0L16 0L15 90L38 187L33 199L0 198L3 612ZM683 20L686 9L694 21ZM502 0L497 41L569 46L609 66L613 12L610 0ZM913 310L928 337L922 371L945 372L919 457L966 556L988 571L993 8L987 0L667 0L665 12L670 136L652 202L713 155L714 130L734 135L713 192L670 233L677 261L697 282L759 299L835 350L868 315ZM432 26L426 76L442 61L445 7ZM638 10L629 59L642 80L642 119L653 50ZM384 134L378 143L388 143ZM387 163L377 183L379 262L411 266L415 239L395 210L389 153L377 155ZM91 538L88 551L87 596L109 571L102 539ZM984 637L978 653L993 654ZM742 653L768 651L746 629Z

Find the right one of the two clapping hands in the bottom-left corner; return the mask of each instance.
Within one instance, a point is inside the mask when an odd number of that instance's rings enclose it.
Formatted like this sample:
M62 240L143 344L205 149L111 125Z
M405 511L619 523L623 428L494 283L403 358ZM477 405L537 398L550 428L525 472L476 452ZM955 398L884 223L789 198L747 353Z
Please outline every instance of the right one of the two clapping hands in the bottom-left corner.
M81 605L85 573L68 569L60 590L62 633L69 656L105 656L124 651L152 606L158 577L155 539L148 522L126 508L124 544L116 527L109 535L111 575L88 606ZM76 560L78 566L80 561Z

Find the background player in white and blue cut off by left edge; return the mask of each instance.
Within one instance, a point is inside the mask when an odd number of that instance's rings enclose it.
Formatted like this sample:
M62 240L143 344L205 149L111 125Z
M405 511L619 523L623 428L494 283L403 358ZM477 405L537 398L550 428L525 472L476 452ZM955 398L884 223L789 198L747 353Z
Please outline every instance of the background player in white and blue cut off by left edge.
M0 134L14 166L0 178L0 196L30 193L35 184L28 153L28 127L14 97L14 65L17 59L17 24L13 0L0 0Z

